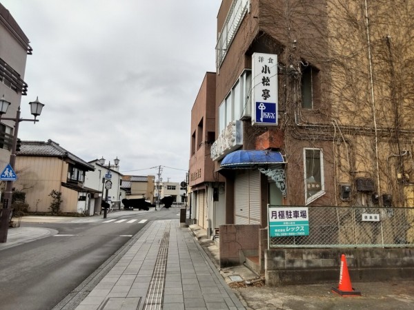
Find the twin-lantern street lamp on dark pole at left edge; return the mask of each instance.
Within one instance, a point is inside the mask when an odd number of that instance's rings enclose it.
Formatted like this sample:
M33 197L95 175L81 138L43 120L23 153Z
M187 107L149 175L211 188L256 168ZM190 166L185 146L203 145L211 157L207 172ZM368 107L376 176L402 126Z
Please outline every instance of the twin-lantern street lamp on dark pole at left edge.
M4 99L4 95L0 99L0 121L14 121L14 131L12 137L12 147L11 147L11 154L10 154L10 167L14 169L14 164L16 163L16 145L17 145L17 134L19 134L19 123L22 121L32 121L34 123L38 122L39 120L36 119L37 116L41 114L41 110L45 105L39 102L39 99L36 98L35 101L29 103L30 105L30 112L34 116L33 119L28 118L20 118L20 106L17 108L16 117L1 117L3 114L6 114L7 109L10 105L9 101ZM8 225L9 225L9 218L11 213L11 205L12 205L12 180L6 180L6 192L4 192L4 199L3 199L3 209L1 210L0 216L0 242L7 242L7 233L8 233Z

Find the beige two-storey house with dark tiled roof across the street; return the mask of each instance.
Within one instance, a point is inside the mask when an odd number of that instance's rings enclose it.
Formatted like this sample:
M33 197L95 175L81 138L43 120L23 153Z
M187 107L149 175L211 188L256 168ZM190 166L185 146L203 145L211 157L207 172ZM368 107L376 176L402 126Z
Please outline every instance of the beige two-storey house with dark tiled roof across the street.
M52 190L61 192L61 211L93 215L99 190L84 186L85 174L95 167L52 140L21 141L14 187L26 193L30 211L48 212Z

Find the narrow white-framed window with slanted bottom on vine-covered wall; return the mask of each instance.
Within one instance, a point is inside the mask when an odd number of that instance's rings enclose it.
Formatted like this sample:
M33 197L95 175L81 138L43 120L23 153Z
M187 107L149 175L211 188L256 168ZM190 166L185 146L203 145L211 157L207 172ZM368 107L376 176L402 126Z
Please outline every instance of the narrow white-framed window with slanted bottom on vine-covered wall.
M306 205L325 194L324 153L322 149L304 149L304 177Z

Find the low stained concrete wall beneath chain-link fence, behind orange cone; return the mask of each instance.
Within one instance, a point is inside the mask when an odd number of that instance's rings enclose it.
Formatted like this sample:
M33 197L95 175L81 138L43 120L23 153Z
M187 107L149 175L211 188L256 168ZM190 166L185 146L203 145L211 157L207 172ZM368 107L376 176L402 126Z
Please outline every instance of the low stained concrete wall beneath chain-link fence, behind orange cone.
M339 282L342 254L351 282L414 277L414 249L268 249L264 258L266 285Z

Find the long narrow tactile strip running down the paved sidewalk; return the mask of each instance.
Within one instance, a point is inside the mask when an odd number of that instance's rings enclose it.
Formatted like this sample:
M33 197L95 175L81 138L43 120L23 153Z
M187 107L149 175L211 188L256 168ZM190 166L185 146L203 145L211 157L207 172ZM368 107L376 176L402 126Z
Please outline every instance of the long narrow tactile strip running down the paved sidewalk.
M144 302L144 310L162 309L164 293L164 282L166 280L168 242L170 241L170 223L166 226L164 236L155 261L154 272L150 282L150 287Z

